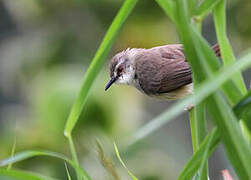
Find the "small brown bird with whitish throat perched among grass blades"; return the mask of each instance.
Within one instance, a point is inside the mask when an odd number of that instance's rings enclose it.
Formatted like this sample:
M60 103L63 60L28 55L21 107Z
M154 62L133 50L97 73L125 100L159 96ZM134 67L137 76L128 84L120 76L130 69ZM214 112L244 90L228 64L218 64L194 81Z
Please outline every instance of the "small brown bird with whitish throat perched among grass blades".
M220 57L219 46L212 49ZM122 51L110 62L110 78L105 90L113 83L127 84L148 96L168 100L193 92L192 72L181 44Z

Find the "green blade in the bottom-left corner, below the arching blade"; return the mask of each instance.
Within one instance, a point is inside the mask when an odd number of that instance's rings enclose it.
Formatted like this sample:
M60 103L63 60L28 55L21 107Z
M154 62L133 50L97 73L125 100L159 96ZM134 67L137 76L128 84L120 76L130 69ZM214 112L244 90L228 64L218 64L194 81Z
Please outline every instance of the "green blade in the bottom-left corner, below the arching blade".
M11 178L12 180L56 180L54 178L42 176L27 171L20 171L14 169L7 170L0 168L0 179L5 179L6 177Z

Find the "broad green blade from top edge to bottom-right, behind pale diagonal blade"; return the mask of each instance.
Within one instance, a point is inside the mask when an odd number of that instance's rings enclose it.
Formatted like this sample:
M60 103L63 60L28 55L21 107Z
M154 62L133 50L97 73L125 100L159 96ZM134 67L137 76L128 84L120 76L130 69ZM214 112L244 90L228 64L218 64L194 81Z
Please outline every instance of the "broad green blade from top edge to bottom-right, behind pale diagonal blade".
M192 71L197 74L197 77L201 76L202 79L213 79L218 69L218 67L215 66L217 65L217 59L215 55L212 55L212 51L205 40L191 25L187 1L177 0L176 3L177 20L179 20L177 25L181 40L184 44L185 55L191 65ZM236 81L235 84L237 84ZM231 100L232 96L229 92L233 91L233 89L231 89L230 86L223 85L223 90ZM238 99L232 100L232 103L236 101L238 101ZM207 104L212 119L215 124L219 126L225 149L237 174L243 179L250 178L251 152L247 142L242 136L241 128L231 108L219 92L215 92L207 98ZM245 158L245 156L248 158Z

